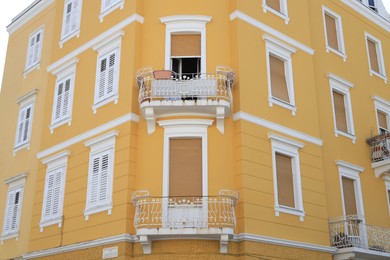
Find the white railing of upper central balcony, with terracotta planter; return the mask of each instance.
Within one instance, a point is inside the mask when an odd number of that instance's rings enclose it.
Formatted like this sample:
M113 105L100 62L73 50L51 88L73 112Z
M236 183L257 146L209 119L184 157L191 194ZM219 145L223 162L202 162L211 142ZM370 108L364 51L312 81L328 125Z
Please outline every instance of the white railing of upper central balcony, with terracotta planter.
M216 73L177 74L151 67L136 74L139 103L153 100L225 100L232 101L234 72L218 66Z

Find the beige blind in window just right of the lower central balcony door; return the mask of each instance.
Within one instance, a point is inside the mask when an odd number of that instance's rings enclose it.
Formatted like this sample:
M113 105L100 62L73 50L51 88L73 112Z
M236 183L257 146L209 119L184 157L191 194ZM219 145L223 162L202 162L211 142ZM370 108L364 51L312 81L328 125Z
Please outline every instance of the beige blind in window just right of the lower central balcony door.
M279 205L295 208L291 158L275 154Z

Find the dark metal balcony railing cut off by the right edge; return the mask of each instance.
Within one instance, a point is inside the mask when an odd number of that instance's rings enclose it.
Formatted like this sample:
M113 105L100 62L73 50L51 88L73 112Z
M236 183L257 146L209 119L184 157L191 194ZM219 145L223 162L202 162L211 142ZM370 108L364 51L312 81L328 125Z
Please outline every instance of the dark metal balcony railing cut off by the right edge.
M390 158L390 134L383 133L367 139L371 147L371 161L379 162Z

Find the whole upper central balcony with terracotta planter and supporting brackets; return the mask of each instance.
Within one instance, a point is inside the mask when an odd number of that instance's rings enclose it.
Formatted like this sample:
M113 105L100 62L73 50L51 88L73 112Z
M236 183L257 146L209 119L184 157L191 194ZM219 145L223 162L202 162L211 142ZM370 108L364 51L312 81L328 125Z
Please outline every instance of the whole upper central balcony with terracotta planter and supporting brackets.
M218 130L224 132L224 118L233 102L234 72L230 68L217 66L214 74L179 75L148 67L137 72L136 80L148 134L155 131L157 117L172 115L215 117Z

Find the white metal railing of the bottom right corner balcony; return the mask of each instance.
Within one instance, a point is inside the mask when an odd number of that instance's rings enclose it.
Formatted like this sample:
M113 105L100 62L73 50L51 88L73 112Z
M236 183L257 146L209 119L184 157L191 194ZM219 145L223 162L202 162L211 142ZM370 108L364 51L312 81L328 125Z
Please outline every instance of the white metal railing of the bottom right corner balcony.
M390 253L390 229L368 225L363 216L330 219L329 229L330 243L334 247L359 247Z

